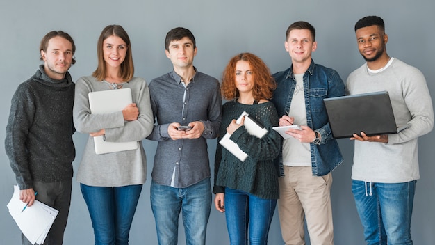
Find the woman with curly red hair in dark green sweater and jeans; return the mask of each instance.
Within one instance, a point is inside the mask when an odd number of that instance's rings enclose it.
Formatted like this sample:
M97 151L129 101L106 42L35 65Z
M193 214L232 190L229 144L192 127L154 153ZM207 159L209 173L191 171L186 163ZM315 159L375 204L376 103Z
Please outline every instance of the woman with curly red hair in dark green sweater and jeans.
M268 67L254 54L231 58L224 70L222 95L231 100L222 107L220 139L227 132L240 150L247 153L240 161L217 145L215 157L215 207L225 212L231 244L267 244L270 222L279 198L278 166L281 136L277 111L268 101L275 88ZM268 129L261 139L247 132L245 121L236 122L243 111Z

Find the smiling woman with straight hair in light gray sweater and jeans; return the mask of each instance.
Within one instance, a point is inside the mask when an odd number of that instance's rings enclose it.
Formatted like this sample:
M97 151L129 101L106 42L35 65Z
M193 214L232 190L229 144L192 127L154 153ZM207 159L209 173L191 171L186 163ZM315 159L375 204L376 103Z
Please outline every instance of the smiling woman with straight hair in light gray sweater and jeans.
M122 26L106 26L97 42L97 54L97 70L76 82L74 125L78 132L89 134L77 181L88 205L95 244L128 244L147 175L142 139L154 124L149 89L144 79L133 77L131 44ZM122 88L131 88L132 104L114 113L90 113L88 93ZM97 155L95 136L108 142L138 141L138 148Z

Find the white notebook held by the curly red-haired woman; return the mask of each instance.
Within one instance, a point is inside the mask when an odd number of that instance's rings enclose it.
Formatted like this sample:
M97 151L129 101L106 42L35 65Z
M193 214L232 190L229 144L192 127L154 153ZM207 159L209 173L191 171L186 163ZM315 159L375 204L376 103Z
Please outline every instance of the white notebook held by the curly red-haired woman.
M261 137L268 133L268 129L263 127L263 125L261 125L260 123L256 122L256 120L254 120L253 118L249 117L249 114L246 113L246 111L243 111L243 113L239 116L236 122L240 123L243 116L245 116L245 122L243 122L243 125L245 126L249 134L257 136L261 139ZM231 134L225 134L219 141L219 143L229 152L231 152L231 154L236 156L240 161L245 161L247 159L247 154L243 152L243 150L240 150L238 145L234 143L234 141L231 141L229 137L231 137Z

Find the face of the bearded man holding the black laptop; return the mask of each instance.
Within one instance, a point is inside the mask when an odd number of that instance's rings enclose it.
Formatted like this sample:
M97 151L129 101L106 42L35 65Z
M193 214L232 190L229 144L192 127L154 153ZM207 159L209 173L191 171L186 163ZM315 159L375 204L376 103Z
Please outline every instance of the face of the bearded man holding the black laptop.
M356 30L359 53L367 62L377 61L386 54L388 35L379 26L367 26Z

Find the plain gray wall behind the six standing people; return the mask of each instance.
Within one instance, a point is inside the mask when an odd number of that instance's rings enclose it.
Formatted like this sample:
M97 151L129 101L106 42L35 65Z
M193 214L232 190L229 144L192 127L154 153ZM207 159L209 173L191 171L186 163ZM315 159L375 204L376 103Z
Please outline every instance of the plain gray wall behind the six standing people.
M386 22L388 54L419 68L425 74L434 98L434 10L432 0L2 0L0 148L4 149L10 99L18 84L31 77L41 63L39 42L51 30L66 31L76 42L77 63L70 69L74 81L95 70L97 38L108 24L121 24L129 33L136 76L151 81L172 69L164 54L163 41L167 31L184 26L197 39L195 66L220 79L229 58L240 52L257 54L272 72L288 68L290 57L284 49L285 31L289 24L305 20L311 22L318 33L318 49L313 53L315 62L336 69L345 80L364 62L356 49L355 22L366 15L379 15ZM415 244L435 244L434 136L435 132L431 132L419 139L421 180L417 184L412 220ZM83 134L74 134L75 170L85 139ZM210 158L214 159L216 141L208 143ZM340 139L339 143L345 161L334 171L331 193L335 242L339 245L364 244L363 229L350 190L353 143L348 139ZM144 145L150 175L156 143L144 141ZM0 244L19 244L19 229L6 207L13 193L15 175L4 150L0 150L0 161ZM211 167L213 169L213 164ZM150 182L149 176L131 227L131 244L157 244L149 204ZM183 233L180 228L179 244L185 244ZM93 244L92 225L75 176L64 244ZM214 207L208 222L207 244L229 244L224 214ZM272 221L269 244L282 244L277 213Z

